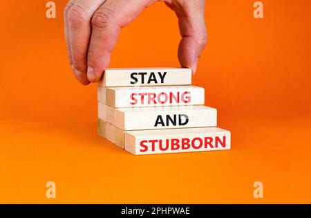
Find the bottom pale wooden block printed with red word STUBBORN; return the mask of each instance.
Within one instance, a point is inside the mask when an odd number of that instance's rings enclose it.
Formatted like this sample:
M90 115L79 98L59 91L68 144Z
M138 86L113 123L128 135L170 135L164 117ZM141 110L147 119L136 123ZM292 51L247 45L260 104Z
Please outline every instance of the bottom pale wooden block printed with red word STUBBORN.
M230 149L230 132L217 127L125 131L124 149L135 155Z

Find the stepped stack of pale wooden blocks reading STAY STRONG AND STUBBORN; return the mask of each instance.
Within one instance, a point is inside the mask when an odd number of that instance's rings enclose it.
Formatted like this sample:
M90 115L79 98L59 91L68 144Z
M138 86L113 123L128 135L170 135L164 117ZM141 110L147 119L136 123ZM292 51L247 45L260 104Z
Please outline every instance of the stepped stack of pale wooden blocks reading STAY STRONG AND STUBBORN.
M97 98L98 134L132 154L230 149L190 69L107 69Z

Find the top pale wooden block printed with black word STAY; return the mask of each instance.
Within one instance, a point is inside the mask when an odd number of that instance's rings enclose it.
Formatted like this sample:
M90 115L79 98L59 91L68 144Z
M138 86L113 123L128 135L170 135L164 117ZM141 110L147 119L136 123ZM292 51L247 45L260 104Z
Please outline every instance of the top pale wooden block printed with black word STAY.
M191 84L191 69L133 68L106 69L100 87L173 86Z

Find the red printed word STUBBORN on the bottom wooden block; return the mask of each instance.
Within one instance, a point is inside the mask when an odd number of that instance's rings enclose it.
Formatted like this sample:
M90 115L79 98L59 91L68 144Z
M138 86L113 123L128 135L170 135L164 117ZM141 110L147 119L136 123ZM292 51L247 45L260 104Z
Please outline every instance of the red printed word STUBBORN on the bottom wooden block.
M155 152L156 150L176 151L187 149L215 149L218 147L226 147L226 136L220 137L196 137L196 138L169 138L169 139L153 139L141 140L140 152Z

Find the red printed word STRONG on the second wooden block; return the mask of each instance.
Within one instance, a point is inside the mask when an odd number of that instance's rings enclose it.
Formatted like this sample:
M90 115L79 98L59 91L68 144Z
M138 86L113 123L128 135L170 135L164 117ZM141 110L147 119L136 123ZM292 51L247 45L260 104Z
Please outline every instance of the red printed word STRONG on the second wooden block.
M190 91L183 91L182 93L180 93L180 91L176 91L175 93L131 93L130 98L131 105L163 105L167 102L169 102L170 104L191 102Z

